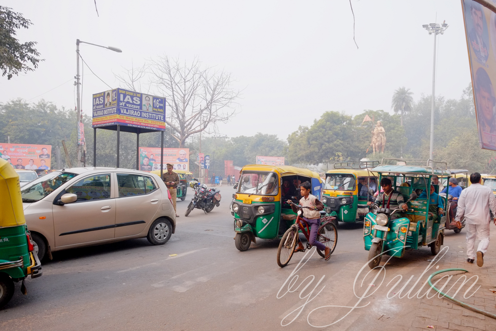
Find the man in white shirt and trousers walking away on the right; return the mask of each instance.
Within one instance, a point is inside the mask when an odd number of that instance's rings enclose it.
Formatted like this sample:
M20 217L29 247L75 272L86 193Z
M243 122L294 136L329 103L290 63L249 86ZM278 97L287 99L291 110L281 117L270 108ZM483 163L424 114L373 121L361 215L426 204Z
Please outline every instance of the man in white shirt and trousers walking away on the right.
M484 265L484 254L489 246L489 225L491 216L489 210L496 215L496 199L493 190L481 185L481 174L474 172L470 175L471 186L462 191L458 199L458 210L455 220L460 221L465 215L467 223L467 262L474 263L474 246L476 236L479 238L477 248L477 265ZM496 218L493 219L496 224Z

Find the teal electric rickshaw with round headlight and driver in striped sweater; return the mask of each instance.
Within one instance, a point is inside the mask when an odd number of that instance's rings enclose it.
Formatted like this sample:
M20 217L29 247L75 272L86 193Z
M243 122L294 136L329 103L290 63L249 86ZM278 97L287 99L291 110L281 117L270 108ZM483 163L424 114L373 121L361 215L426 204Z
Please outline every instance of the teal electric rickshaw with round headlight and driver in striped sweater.
M446 223L446 213L439 214L438 206L441 203L446 211L448 201L437 196L438 187L432 185L431 189L431 183L434 176L439 180L449 179L451 172L429 166L385 165L383 162L372 171L379 174L379 180L389 178L393 190L407 197L408 210L372 205L372 211L364 221L364 244L365 250L369 251L369 267L379 265L383 254L402 258L406 250L423 246L430 246L431 253L436 255L444 241ZM438 197L437 201L435 197ZM395 218L392 215L400 216Z

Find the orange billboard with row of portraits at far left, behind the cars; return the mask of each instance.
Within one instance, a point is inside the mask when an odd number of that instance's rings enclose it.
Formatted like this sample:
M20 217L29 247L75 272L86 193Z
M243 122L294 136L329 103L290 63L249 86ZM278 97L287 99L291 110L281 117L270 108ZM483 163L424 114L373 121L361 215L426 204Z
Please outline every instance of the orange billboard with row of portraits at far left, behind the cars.
M0 157L15 169L50 170L51 145L0 143Z

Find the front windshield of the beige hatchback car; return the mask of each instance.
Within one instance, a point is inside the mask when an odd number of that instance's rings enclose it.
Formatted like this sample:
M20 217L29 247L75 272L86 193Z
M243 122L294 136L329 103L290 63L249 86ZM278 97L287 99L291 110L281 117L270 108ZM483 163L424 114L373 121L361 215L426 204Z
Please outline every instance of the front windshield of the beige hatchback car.
M36 202L57 190L62 184L77 176L69 172L55 171L38 177L21 189L22 202Z

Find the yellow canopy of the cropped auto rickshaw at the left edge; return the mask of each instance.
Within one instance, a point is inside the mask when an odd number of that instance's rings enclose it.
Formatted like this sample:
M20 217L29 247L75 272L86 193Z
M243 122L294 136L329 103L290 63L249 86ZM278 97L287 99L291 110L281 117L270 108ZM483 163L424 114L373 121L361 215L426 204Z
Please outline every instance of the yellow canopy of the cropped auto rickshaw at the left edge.
M26 224L22 208L19 175L0 158L0 228Z

